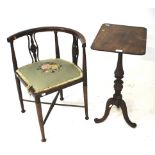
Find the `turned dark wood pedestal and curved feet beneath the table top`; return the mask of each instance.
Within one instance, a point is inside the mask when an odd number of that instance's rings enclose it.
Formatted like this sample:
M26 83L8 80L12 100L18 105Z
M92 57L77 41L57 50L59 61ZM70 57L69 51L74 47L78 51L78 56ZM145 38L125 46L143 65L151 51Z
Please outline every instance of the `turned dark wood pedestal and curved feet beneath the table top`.
M95 118L94 121L95 121L95 123L103 122L108 117L112 106L115 105L115 106L117 106L117 108L122 109L122 113L123 113L124 119L127 122L127 124L130 125L131 127L135 128L137 125L136 125L136 123L133 123L130 121L130 119L128 117L127 107L126 107L125 101L122 99L122 94L121 94L121 91L123 89L122 78L124 75L122 58L123 58L123 54L118 53L117 67L115 70L116 80L114 81L115 94L113 95L112 98L108 99L103 117L100 119Z

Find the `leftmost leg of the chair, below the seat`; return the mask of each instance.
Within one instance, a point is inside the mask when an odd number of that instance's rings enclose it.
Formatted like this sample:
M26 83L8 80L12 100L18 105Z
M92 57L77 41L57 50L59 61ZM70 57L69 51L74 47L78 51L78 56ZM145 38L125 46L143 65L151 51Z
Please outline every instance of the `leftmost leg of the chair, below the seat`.
M24 104L23 104L23 97L22 97L20 81L19 81L19 79L17 77L15 77L15 79L16 79L16 84L17 84L17 91L18 91L20 106L21 106L21 109L22 109L21 112L24 113L25 109L24 109Z

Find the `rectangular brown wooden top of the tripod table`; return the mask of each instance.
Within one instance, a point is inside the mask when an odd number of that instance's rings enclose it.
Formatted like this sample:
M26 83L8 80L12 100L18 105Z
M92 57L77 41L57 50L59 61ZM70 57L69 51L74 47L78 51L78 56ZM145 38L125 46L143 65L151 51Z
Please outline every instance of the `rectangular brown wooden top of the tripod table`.
M103 24L91 46L94 50L144 55L147 29L126 25Z

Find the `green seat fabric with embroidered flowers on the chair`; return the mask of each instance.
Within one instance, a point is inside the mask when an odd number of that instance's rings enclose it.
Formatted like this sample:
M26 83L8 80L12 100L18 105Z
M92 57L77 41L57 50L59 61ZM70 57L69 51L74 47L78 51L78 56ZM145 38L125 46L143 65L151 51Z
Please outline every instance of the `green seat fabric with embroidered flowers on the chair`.
M35 93L64 85L83 77L82 70L66 60L47 59L20 67L17 75Z

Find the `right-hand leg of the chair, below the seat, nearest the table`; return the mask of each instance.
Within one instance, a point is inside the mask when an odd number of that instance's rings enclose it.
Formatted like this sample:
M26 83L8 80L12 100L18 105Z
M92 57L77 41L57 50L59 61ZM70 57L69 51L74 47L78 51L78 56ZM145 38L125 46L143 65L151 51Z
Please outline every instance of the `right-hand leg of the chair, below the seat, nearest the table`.
M84 105L85 105L85 119L88 120L88 92L87 85L83 85Z

